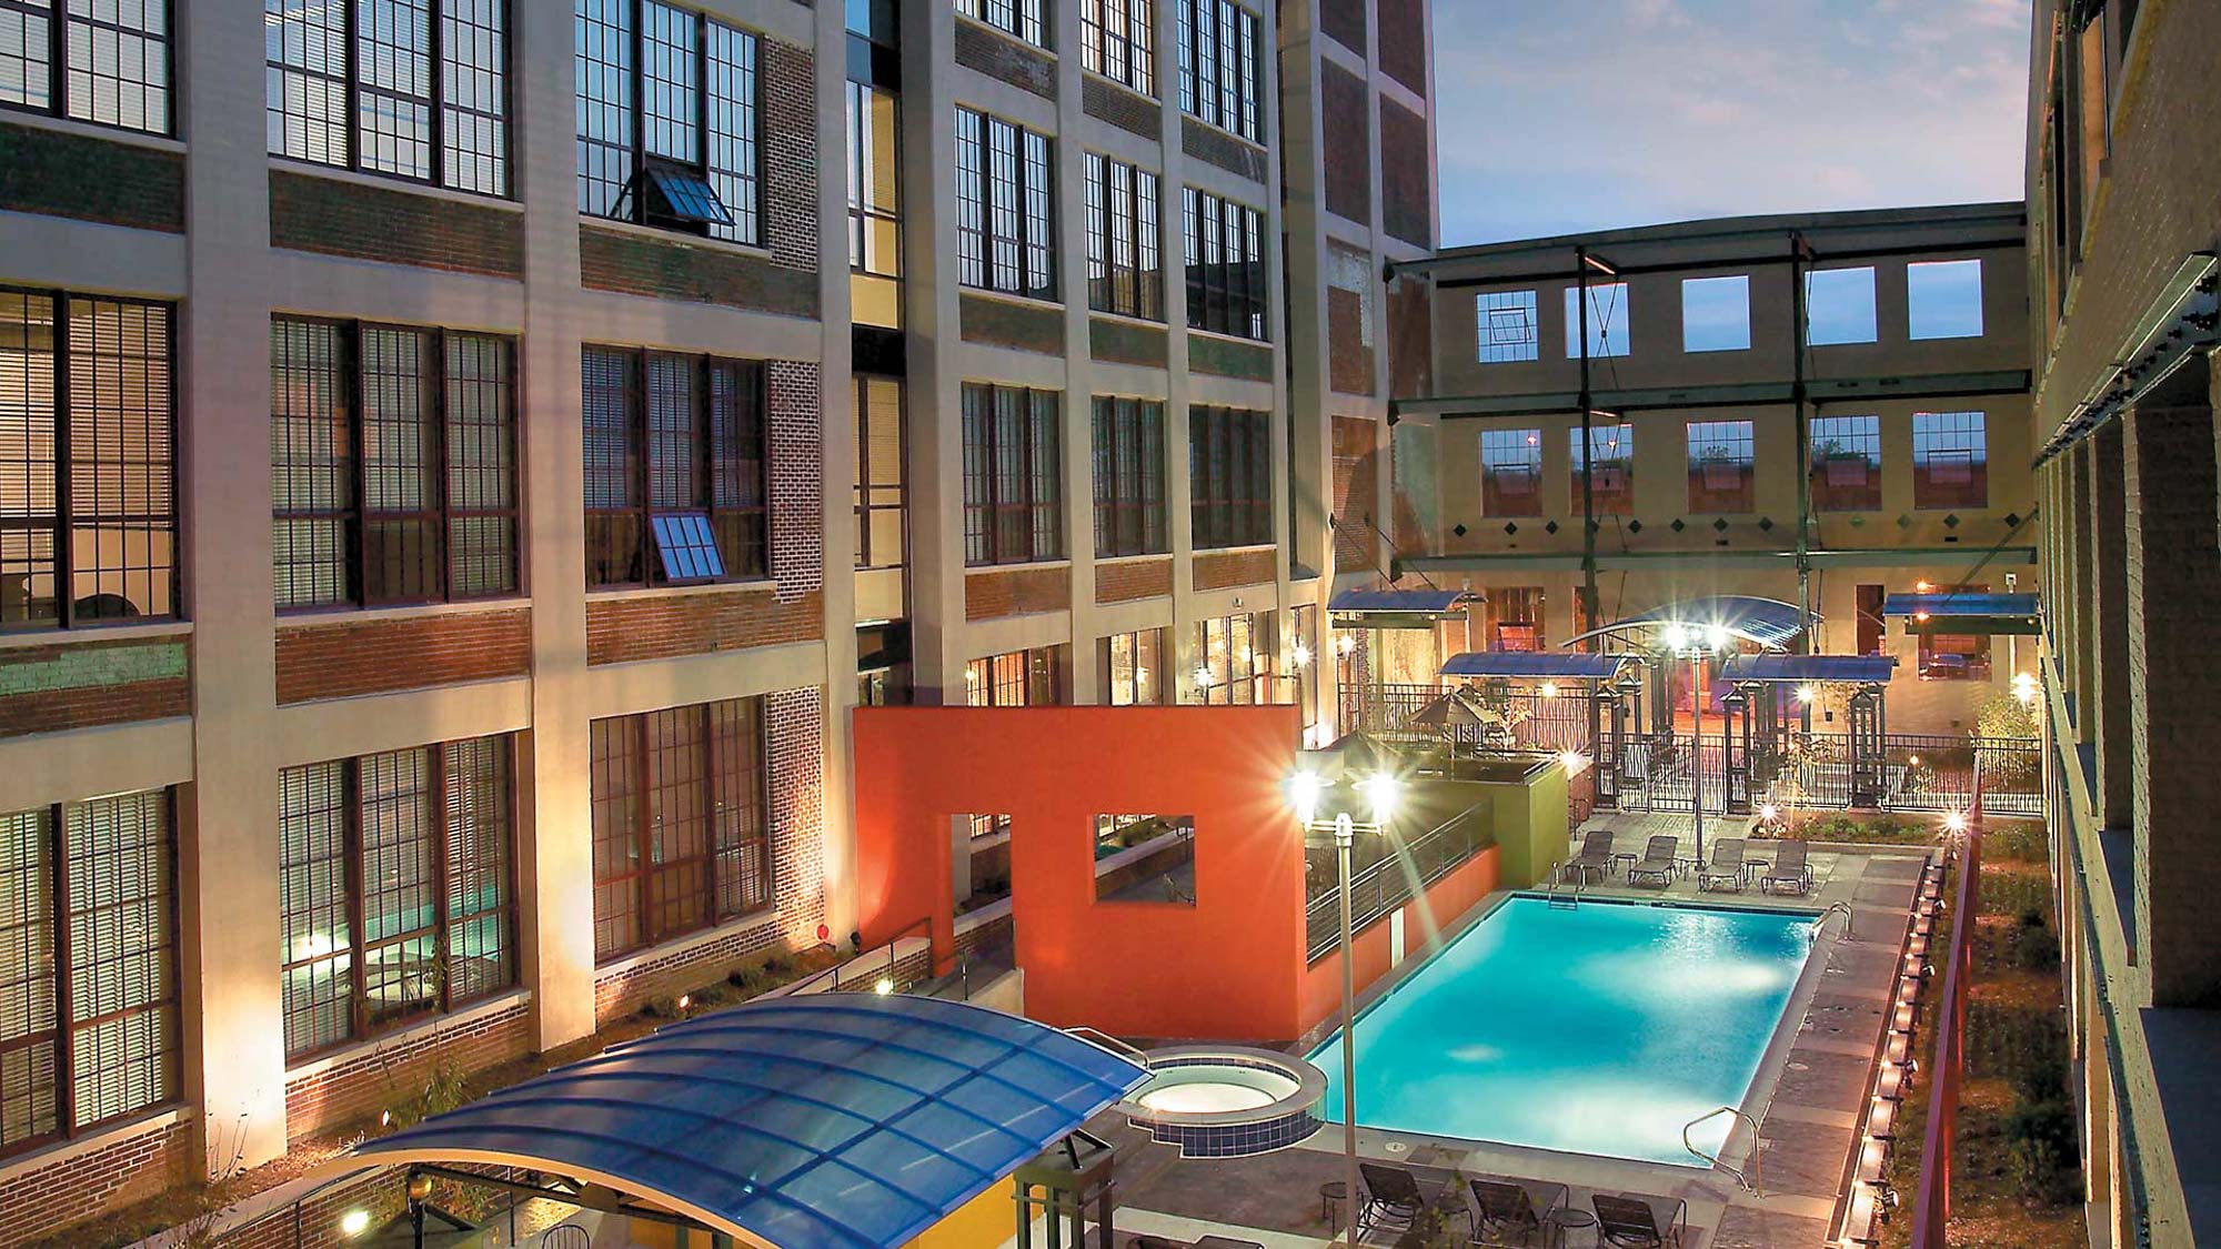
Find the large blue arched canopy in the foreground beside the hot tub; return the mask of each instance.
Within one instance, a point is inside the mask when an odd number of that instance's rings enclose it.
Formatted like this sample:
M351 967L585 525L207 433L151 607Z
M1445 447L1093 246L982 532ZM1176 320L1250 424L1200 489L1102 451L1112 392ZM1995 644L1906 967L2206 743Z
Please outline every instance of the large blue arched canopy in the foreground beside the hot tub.
M342 1162L526 1167L751 1245L891 1249L1144 1078L1108 1049L1002 1011L815 993L613 1045Z

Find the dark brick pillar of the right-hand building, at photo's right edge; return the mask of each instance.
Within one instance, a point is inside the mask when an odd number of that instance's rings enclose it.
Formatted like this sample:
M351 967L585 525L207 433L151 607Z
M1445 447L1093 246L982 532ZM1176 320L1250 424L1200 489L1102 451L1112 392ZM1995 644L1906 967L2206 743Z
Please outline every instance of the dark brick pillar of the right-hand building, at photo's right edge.
M2203 380L2203 378L2201 378ZM2203 387L2201 387L2203 391ZM2208 402L2139 407L2123 438L2128 498L2128 682L2137 831L2137 962L2159 1007L2221 1000L2212 898L2221 862L2221 618L2214 413Z

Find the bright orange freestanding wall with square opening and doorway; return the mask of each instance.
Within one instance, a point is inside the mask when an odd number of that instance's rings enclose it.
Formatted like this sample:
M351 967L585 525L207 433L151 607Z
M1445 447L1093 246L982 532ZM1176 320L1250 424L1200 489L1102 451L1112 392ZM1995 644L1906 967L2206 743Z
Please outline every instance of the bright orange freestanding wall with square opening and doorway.
M1293 707L857 707L864 945L933 920L953 949L948 820L1011 816L1026 1013L1113 1036L1302 1031L1304 847L1282 785ZM1097 902L1095 816L1195 818L1195 905Z

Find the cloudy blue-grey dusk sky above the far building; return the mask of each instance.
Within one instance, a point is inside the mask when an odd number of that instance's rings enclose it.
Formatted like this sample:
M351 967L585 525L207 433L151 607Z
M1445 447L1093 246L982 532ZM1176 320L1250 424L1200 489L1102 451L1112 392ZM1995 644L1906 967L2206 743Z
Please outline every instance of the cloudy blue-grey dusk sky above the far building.
M2021 198L2030 0L1435 0L1441 242Z

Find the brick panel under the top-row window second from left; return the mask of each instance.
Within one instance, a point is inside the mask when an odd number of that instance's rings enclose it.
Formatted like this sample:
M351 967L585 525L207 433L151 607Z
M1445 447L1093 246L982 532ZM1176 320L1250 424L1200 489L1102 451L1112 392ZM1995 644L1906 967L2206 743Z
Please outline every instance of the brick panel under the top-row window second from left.
M271 169L271 247L524 278L524 216L513 209Z

